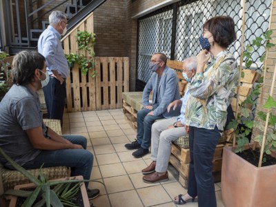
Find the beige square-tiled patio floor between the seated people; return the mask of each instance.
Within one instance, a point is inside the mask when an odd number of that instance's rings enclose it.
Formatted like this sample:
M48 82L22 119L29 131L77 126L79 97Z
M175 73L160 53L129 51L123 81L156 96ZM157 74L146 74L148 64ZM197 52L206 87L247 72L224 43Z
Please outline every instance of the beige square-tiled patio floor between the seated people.
M88 150L94 158L90 188L99 188L100 196L92 200L97 207L177 206L173 197L186 193L169 172L169 181L146 184L141 170L151 163L150 154L132 157L132 150L124 145L134 141L136 130L125 121L121 109L92 112L74 112L64 115L63 134L79 134L88 139ZM215 184L217 206L221 201L220 184ZM196 203L185 206L197 206Z

